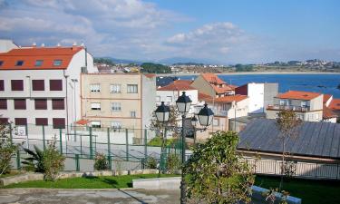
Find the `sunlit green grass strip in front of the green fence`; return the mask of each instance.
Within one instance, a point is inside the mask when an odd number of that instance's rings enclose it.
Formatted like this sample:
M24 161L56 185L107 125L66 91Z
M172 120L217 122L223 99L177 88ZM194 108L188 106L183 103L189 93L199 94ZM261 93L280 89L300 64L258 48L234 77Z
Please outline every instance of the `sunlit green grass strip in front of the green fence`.
M87 178L70 178L63 180L44 181L32 180L21 183L15 183L8 188L46 188L46 189L121 189L131 188L133 179L150 179L157 178L158 174L139 174L109 177L87 177ZM161 177L176 177L179 175L161 174Z

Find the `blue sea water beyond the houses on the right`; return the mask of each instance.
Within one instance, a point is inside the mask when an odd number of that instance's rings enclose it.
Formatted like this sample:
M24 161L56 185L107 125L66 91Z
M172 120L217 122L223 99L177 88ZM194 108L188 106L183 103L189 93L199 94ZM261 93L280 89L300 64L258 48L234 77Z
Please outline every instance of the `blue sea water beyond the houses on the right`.
M340 73L289 73L289 74L218 74L226 83L243 85L246 83L278 83L279 92L289 90L322 92L340 98ZM180 79L195 79L196 75L180 76Z

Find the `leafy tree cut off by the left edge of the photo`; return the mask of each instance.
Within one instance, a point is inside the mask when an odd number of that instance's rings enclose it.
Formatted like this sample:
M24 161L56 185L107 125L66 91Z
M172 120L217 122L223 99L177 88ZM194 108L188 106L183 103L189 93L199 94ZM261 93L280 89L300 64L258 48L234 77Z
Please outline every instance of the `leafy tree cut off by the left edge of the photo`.
M11 158L19 148L12 141L10 125L0 124L0 176L8 173L11 168Z

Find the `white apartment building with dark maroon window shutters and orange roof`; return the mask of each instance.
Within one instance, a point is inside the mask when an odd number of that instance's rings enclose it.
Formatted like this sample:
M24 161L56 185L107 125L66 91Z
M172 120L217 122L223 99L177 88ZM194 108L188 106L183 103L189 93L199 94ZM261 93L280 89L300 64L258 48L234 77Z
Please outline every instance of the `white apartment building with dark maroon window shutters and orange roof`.
M0 122L64 128L81 118L81 73L97 72L84 46L0 41Z

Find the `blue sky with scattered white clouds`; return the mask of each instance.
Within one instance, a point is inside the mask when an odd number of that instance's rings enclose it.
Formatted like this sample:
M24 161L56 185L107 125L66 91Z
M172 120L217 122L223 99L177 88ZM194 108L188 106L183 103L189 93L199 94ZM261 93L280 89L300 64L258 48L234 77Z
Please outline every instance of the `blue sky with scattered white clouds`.
M0 38L142 62L340 62L339 9L338 0L0 0Z

